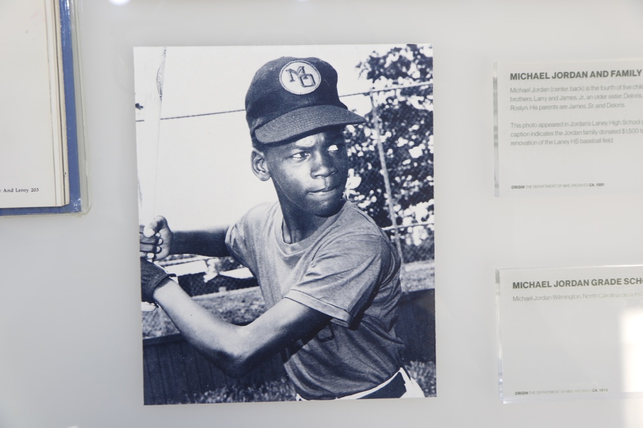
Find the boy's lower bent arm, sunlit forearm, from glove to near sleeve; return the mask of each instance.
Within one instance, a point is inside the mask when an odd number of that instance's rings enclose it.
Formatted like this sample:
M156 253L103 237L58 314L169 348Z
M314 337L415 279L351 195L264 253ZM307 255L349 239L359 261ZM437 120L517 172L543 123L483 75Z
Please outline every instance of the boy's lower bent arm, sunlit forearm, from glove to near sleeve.
M244 375L298 339L314 334L330 320L301 303L282 299L249 325L232 325L201 307L170 279L163 280L153 296L186 340L234 377Z

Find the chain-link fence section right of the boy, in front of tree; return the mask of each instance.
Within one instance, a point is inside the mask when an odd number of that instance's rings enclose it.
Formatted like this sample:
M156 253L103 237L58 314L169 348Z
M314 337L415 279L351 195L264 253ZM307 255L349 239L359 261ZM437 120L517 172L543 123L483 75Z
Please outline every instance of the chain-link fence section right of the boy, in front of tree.
M433 260L433 84L347 97L371 105L367 123L346 132L349 199L386 231L403 263Z

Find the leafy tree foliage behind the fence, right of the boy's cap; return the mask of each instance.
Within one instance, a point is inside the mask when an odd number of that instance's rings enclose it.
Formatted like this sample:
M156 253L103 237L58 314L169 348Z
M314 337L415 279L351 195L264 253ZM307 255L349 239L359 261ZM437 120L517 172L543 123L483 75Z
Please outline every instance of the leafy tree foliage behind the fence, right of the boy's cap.
M426 46L373 52L358 64L374 88L367 123L347 130L359 183L349 197L381 227L392 226L377 139L385 154L396 225L426 222L433 215L433 57ZM424 83L425 85L417 85ZM388 88L388 89L387 89Z

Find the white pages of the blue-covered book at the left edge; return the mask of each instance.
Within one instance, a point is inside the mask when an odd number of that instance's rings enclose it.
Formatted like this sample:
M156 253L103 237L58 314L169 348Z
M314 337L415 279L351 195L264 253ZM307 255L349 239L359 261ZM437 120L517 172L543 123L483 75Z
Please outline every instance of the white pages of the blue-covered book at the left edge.
M0 4L0 208L68 199L54 3Z

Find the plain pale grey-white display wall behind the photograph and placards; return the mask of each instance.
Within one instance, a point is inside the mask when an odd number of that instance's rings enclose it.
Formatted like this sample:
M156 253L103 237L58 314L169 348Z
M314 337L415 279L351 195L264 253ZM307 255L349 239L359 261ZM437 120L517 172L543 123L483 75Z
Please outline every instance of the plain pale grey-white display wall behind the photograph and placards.
M495 198L492 94L496 61L643 57L642 2L79 3L93 207L0 218L0 426L643 424L643 400L498 399L494 269L642 263L643 196ZM391 42L435 55L438 397L143 407L132 46Z

